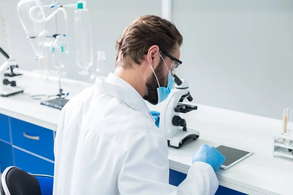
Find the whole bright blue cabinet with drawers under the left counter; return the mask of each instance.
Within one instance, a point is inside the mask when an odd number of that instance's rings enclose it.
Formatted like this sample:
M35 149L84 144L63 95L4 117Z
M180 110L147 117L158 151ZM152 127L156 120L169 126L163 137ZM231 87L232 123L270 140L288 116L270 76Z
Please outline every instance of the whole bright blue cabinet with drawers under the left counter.
M54 132L0 114L0 171L17 166L31 174L54 175Z

